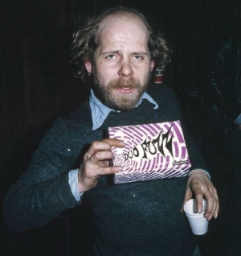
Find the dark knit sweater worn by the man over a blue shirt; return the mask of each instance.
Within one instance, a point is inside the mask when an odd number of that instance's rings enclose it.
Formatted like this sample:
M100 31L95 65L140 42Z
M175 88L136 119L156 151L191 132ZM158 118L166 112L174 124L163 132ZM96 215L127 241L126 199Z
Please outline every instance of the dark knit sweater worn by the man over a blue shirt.
M42 139L30 167L6 195L6 225L15 232L46 225L65 209L79 204L71 194L68 171L80 166L85 148L101 140L108 126L182 122L170 88L150 85L147 93L157 101L158 109L144 100L129 112L110 113L97 130L92 130L88 102L67 118L58 119ZM184 134L192 168L205 168L185 130ZM180 213L186 177L115 185L109 184L108 178L101 177L96 188L84 193L93 209L96 255L192 254L195 237Z

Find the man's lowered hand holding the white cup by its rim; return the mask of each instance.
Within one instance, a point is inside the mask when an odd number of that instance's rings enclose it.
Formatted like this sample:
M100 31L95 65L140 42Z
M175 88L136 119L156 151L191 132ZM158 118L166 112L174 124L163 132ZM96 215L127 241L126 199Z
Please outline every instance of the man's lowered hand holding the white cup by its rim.
M208 221L210 221L212 217L218 217L219 196L217 190L214 188L214 184L212 184L206 173L202 170L197 169L189 176L186 184L186 194L182 204L182 212L184 204L192 198L193 194L197 200L198 213L202 213L202 198L205 198L207 206L204 217L206 217Z

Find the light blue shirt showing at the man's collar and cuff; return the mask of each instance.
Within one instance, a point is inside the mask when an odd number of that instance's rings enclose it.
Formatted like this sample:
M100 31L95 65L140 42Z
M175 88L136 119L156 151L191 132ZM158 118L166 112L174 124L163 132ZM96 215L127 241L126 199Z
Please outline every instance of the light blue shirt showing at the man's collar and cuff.
M149 102L153 103L154 105L153 109L158 108L157 102L154 101L153 98L150 97L148 93L143 93L136 107L141 104L143 99L146 99ZM98 100L93 90L91 90L91 94L89 97L89 105L91 107L91 112L92 112L92 124L93 124L92 130L96 130L97 128L102 126L105 118L108 117L108 114L111 111L116 111L114 109L110 109L107 105L104 105L100 100ZM71 192L73 196L75 196L76 200L80 201L82 194L80 194L78 189L78 169L69 171L68 183L71 187Z

